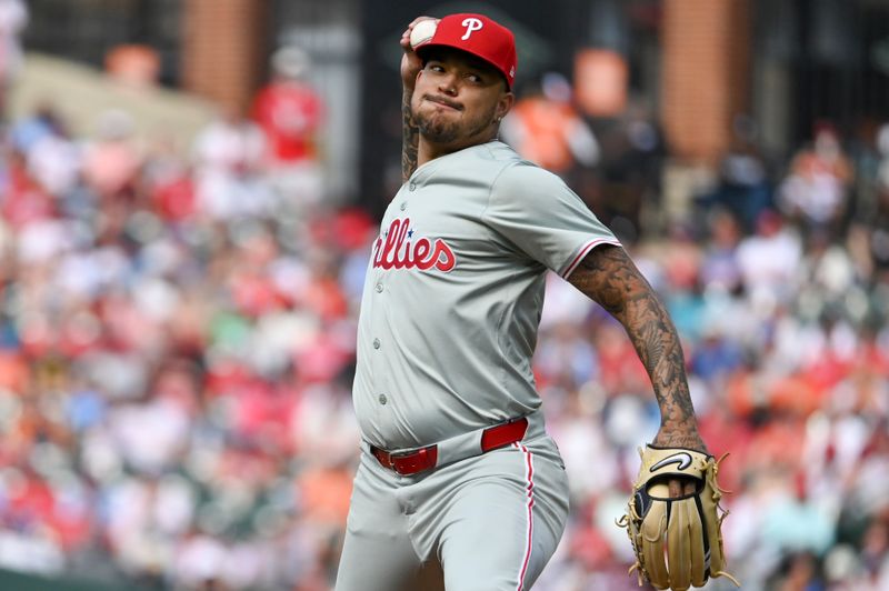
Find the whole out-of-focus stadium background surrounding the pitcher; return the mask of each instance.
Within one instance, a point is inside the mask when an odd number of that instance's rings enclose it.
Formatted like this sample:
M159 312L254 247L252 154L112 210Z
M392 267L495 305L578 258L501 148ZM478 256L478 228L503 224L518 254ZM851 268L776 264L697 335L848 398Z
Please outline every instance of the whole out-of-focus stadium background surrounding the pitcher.
M0 589L331 588L398 39L455 11L516 32L503 139L669 305L743 589L889 589L886 0L0 0ZM653 397L547 298L573 509L536 589L636 589Z

